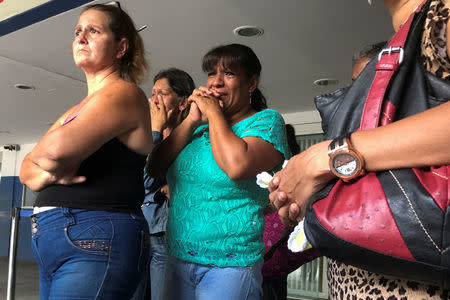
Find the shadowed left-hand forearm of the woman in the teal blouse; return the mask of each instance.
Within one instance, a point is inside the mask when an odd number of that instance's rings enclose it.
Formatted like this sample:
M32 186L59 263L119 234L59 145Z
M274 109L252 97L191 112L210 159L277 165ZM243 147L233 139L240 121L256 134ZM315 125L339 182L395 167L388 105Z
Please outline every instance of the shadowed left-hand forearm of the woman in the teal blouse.
M167 169L188 144L198 124L185 119L172 133L158 144L150 154L145 166L146 172L154 178L165 176Z

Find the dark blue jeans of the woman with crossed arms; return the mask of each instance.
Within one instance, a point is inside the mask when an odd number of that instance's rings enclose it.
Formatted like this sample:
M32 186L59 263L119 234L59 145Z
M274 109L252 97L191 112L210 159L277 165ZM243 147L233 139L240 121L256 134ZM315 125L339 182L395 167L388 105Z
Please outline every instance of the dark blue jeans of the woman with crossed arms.
M40 299L130 299L148 264L142 214L55 208L31 216Z

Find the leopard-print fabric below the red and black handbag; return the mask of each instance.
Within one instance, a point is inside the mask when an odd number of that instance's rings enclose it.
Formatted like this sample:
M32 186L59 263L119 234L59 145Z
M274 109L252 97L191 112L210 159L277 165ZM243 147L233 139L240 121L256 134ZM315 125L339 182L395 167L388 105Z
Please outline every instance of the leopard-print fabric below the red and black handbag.
M383 276L327 260L331 300L450 300L449 291L437 286Z

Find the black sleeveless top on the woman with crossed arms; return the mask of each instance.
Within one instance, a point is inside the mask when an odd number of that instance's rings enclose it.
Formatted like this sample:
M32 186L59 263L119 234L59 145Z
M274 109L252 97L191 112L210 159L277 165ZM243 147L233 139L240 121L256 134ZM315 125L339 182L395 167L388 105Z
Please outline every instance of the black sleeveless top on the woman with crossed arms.
M81 163L78 175L86 176L86 182L50 185L39 193L35 206L138 211L144 201L145 159L114 138Z

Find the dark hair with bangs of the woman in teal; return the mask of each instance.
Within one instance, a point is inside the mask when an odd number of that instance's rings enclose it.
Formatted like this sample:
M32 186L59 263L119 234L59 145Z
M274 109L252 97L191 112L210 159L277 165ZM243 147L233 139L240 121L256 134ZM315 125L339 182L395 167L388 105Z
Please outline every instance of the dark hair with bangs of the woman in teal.
M225 68L235 70L242 68L250 79L261 75L261 63L255 52L250 47L241 44L229 44L215 47L208 51L203 57L202 69L208 73L219 63ZM256 111L267 108L267 101L260 89L256 87L251 95L250 104Z

